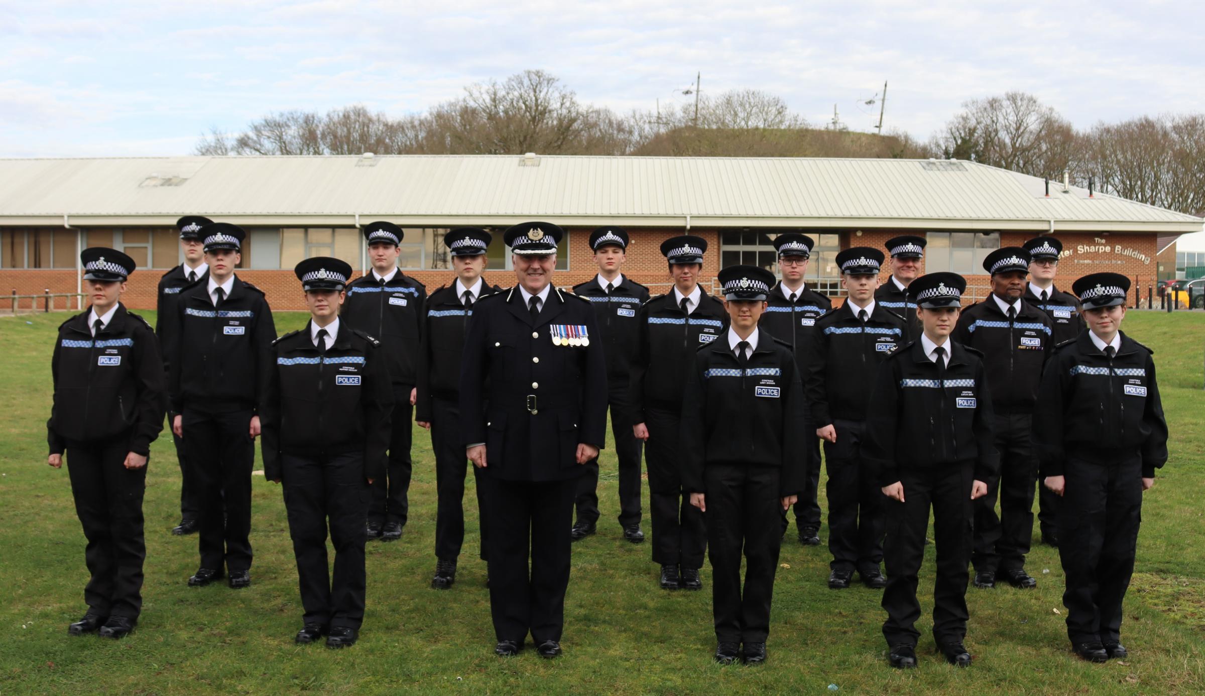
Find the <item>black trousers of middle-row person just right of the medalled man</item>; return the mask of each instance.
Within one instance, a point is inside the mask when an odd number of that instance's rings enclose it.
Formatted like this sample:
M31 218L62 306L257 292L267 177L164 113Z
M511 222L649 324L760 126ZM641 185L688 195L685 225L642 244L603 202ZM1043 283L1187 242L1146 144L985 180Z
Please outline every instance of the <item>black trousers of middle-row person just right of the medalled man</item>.
M681 450L680 412L647 407L648 517L652 524L653 562L663 566L701 568L707 552L707 527L690 491L682 490L678 470Z

